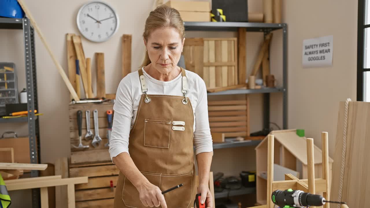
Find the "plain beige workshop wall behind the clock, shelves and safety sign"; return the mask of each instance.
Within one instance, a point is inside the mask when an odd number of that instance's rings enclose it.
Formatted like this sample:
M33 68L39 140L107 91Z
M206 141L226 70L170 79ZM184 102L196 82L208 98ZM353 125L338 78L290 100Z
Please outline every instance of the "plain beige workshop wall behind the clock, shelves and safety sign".
M78 34L75 17L80 6L87 1L26 0L44 37L66 73L67 57L65 33ZM141 62L144 46L142 30L152 9L153 0L105 0L120 16L118 32L105 43L91 43L84 38L86 57L105 53L105 81L107 93L115 93L121 77L121 35L132 34L132 70ZM133 9L135 8L135 9ZM262 0L249 0L249 11L262 12ZM320 132L329 132L329 153L334 153L339 101L356 99L356 44L357 1L355 0L285 0L283 20L288 24L288 127L304 128L307 137L313 137L321 147ZM306 38L334 36L333 66L302 68L302 43ZM236 37L234 32L194 32L188 37ZM282 83L282 32L274 31L271 45L271 71ZM256 59L262 33L247 33L247 74ZM25 85L24 58L21 31L0 30L0 61L12 61L19 70L19 88ZM36 35L36 59L41 131L41 162L54 162L58 157L70 155L68 133L69 93L50 56ZM95 83L95 78L93 78ZM95 89L94 89L95 91ZM250 131L262 128L262 95L250 95ZM271 121L282 126L281 94L271 95ZM1 124L0 133L6 130L27 134L27 124ZM239 150L237 153L235 150ZM213 171L238 175L241 170L255 169L252 147L215 150ZM225 156L226 155L226 156ZM239 159L238 159L239 158ZM243 159L243 160L241 160ZM230 162L232 161L232 162Z

